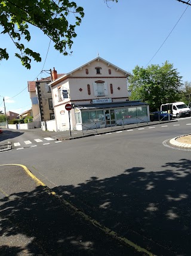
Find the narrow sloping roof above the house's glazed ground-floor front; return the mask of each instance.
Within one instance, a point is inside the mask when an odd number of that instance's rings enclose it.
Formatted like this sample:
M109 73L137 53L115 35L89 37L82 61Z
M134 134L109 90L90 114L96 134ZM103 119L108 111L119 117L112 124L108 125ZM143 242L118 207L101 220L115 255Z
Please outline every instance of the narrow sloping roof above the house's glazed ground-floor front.
M140 107L147 106L147 103L141 103L140 101L124 101L121 103L103 103L103 104L83 104L81 106L75 105L80 110L87 109L112 109L118 107Z

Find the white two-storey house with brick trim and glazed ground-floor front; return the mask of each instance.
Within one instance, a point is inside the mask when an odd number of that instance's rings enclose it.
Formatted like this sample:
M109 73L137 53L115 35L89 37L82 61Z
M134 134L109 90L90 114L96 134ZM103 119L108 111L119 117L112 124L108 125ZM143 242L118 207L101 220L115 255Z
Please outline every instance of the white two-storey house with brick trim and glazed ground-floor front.
M64 74L49 85L52 87L57 131L93 129L115 125L147 122L149 106L129 101L125 70L97 57L87 64Z

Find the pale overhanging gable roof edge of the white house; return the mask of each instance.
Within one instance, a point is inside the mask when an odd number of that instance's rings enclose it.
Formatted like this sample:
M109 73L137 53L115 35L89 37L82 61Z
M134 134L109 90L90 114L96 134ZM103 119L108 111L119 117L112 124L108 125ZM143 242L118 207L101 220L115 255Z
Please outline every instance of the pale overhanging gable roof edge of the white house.
M130 74L129 72L127 72L127 71L125 71L125 70L122 70L122 68L119 68L119 67L113 65L112 63L110 63L109 61L106 61L105 59L103 59L103 58L101 58L100 56L98 56L97 58L92 59L91 61L87 62L86 64L82 65L81 67L78 67L78 68L76 68L75 70L72 70L72 71L70 71L70 72L67 73L67 74L64 74L63 76L58 77L56 80L54 80L53 82L51 82L50 85L53 85L55 82L61 80L62 78L65 78L65 77L69 76L70 74L74 73L74 72L77 71L77 70L80 70L81 68L84 68L85 66L87 66L88 64L90 64L91 62L94 62L94 61L102 61L102 62L106 63L108 66L111 66L111 67L115 68L116 70L119 70L119 71L121 71L122 73L125 73L125 76L127 76L127 77L128 77L128 76L131 76L131 74Z

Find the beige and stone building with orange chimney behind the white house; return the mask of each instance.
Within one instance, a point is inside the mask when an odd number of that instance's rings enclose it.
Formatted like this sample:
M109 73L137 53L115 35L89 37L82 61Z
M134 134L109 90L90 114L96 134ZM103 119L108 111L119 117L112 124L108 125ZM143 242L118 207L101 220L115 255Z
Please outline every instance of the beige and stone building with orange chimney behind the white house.
M33 122L54 119L53 98L48 83L60 76L63 76L63 74L57 75L56 70L53 70L50 77L27 82L30 100L32 101Z

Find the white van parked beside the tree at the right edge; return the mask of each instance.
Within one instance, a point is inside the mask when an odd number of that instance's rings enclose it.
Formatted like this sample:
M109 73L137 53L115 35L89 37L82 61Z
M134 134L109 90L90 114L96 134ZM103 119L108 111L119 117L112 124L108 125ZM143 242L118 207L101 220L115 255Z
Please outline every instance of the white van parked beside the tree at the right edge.
M167 103L161 105L161 111L167 111L170 110L170 113L175 118L181 118L183 116L190 116L191 112L189 107L183 103L183 102L177 102L177 103Z

